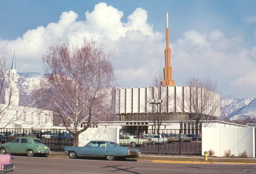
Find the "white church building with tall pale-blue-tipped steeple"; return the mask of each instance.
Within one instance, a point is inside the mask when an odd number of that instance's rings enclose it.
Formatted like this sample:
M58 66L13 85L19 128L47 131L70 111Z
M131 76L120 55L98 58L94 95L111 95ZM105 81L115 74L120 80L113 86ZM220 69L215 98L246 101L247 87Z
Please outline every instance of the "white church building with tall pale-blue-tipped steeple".
M17 87L16 75L14 52L10 79L5 89L5 99L2 96L3 102L0 105L0 128L51 129L53 126L52 111L19 105L20 92Z

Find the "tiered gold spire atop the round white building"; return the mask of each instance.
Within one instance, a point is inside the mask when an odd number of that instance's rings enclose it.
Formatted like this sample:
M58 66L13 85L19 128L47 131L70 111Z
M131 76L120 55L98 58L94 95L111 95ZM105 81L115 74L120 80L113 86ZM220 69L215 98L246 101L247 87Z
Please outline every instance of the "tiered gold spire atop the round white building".
M161 86L174 86L175 81L172 80L172 67L171 63L171 49L169 48L169 33L170 29L168 28L168 13L167 13L167 28L166 31L166 49L164 49L165 57L165 67L164 67L164 80L161 80Z

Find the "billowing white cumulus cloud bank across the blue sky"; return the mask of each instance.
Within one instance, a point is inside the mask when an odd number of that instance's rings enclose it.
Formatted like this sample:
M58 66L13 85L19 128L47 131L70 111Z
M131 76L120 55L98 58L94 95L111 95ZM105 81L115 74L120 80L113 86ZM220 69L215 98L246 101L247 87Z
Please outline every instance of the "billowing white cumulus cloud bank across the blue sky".
M85 21L76 21L77 17L73 11L62 12L57 23L28 30L15 40L0 39L0 55L5 53L11 62L15 47L17 71L38 72L49 46L60 40L80 44L86 37L105 43L107 53L115 50L112 62L121 87L148 86L155 73L163 72L165 33L153 31L144 9L135 9L127 22L122 22L123 12L99 3L92 12L85 12ZM227 38L220 30L185 32L183 38L170 43L173 80L182 85L189 76L211 75L223 86L224 95L256 97L256 46L245 49L242 43L241 36ZM248 93L237 90L244 84Z

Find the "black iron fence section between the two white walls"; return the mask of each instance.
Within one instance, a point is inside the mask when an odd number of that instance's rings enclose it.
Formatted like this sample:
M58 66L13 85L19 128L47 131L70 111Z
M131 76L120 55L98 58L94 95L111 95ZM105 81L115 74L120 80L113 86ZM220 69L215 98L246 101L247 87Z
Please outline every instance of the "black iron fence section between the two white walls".
M196 138L196 135L198 138ZM187 154L201 155L201 130L160 129L134 130L120 129L119 144L140 148L143 154Z

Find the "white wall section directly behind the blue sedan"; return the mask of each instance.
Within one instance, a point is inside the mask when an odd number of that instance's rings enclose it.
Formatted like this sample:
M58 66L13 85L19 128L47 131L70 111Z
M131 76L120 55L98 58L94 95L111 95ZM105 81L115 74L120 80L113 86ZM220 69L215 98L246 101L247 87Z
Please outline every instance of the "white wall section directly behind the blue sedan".
M78 146L84 146L92 140L105 140L119 143L119 128L88 128L79 134Z

